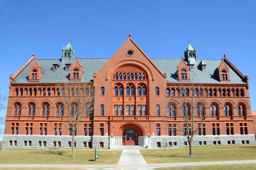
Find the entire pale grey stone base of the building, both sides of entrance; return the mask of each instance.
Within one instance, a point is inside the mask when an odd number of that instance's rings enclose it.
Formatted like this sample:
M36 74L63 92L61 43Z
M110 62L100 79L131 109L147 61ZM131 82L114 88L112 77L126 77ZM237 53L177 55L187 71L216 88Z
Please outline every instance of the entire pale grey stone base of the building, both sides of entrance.
M184 136L139 136L139 145L125 146L138 148L155 148L161 145L172 144L177 147L186 146L187 139ZM15 142L17 141L17 142ZM25 146L26 141L26 146ZM3 135L2 149L46 149L69 148L72 136L53 135ZM76 136L76 148L105 147L122 149L121 136ZM40 146L41 143L41 146ZM12 144L12 145L11 145ZM16 144L16 146L15 146ZM31 145L30 145L31 144ZM45 144L45 146L44 146ZM60 146L59 146L60 144ZM193 146L200 145L227 145L227 144L256 144L255 135L206 135L194 136Z

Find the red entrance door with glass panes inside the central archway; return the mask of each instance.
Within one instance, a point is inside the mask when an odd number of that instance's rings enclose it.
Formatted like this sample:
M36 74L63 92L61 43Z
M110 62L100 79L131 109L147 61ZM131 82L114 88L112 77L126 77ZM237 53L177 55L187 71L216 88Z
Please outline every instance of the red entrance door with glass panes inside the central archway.
M122 145L138 145L138 133L133 129L123 132Z

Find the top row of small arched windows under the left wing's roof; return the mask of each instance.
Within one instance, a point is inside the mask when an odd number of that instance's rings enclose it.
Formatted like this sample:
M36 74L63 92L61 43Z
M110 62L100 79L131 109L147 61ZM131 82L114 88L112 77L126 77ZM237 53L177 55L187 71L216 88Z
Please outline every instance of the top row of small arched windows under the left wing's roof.
M55 87L24 87L24 88L15 88L13 92L13 96L64 96L65 94L70 94L70 96L75 96L78 93L85 93L85 96L93 96L94 90L93 88L85 88L85 89L75 89L70 88L70 91L67 92L62 89L58 89Z

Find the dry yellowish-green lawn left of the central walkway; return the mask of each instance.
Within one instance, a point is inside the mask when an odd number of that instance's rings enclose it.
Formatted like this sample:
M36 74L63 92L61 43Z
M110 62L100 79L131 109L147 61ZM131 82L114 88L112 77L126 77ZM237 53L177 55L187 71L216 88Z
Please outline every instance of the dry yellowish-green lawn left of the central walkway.
M64 151L58 155L58 151ZM53 152L53 153L52 153ZM122 150L99 149L99 159L95 162L94 149L72 150L1 150L0 164L117 164Z

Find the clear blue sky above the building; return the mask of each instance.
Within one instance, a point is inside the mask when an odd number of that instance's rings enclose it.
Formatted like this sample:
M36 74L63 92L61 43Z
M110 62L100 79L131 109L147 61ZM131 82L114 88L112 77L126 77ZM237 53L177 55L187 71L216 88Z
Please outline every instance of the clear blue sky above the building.
M256 0L1 0L1 94L35 51L59 59L71 40L79 58L110 58L128 38L150 58L181 58L188 40L198 59L223 52L250 82L256 110ZM4 116L6 111L1 111Z

